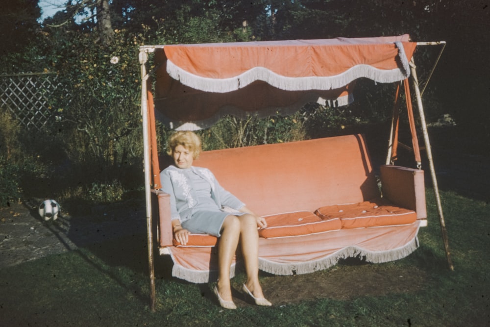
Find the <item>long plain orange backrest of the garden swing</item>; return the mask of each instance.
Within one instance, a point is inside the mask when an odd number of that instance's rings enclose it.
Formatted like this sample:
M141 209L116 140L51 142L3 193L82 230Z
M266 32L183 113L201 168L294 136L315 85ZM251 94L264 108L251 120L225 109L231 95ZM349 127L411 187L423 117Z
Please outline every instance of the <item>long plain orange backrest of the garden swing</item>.
M203 151L194 166L209 168L258 215L313 212L379 196L365 139L358 134Z

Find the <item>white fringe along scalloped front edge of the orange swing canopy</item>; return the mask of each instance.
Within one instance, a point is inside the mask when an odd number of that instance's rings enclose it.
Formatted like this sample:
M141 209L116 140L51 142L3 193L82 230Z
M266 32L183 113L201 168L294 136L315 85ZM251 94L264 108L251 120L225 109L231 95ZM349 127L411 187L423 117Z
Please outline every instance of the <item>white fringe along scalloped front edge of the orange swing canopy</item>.
M403 46L401 46L403 49ZM407 56L399 48L399 57L403 70L408 67ZM205 92L226 93L244 88L248 84L261 80L268 84L286 91L306 91L306 90L331 90L343 87L353 80L361 77L372 79L375 82L391 83L403 80L410 75L410 70L403 72L401 69L381 70L370 65L356 65L347 71L334 76L306 76L288 77L278 75L265 67L254 67L245 73L229 78L209 78L189 73L175 65L171 60L167 60L167 73L173 79L194 89Z

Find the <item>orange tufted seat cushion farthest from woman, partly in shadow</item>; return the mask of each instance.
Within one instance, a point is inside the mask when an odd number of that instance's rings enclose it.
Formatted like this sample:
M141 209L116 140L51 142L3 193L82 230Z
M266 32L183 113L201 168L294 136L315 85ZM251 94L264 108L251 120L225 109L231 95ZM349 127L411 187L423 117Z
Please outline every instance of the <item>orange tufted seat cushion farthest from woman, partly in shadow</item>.
M354 204L328 205L316 210L315 214L321 219L338 218L344 229L405 225L417 220L415 211L394 206L382 199Z

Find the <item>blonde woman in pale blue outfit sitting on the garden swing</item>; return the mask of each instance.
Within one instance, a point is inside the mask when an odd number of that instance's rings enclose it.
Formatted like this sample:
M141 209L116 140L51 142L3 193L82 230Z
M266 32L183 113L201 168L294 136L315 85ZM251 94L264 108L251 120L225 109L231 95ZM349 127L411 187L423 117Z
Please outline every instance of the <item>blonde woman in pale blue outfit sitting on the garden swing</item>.
M179 131L170 137L168 154L174 165L163 170L160 177L162 190L170 194L174 238L182 245L187 244L191 233L220 238L219 277L213 291L226 309L236 309L231 294L230 268L240 240L247 275L242 291L257 305L271 305L264 298L258 277L257 228L266 227L266 220L223 189L211 171L192 166L200 151L201 141L194 132ZM225 206L234 212L225 212Z

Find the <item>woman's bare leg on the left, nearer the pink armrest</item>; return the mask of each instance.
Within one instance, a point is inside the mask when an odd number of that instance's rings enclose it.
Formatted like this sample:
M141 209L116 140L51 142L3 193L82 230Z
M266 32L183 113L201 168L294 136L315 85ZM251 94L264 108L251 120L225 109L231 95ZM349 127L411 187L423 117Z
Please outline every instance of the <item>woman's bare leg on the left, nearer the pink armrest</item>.
M230 268L240 238L240 221L236 216L227 216L221 229L218 244L218 292L224 301L232 301ZM257 229L257 227L255 228Z

